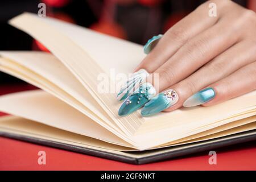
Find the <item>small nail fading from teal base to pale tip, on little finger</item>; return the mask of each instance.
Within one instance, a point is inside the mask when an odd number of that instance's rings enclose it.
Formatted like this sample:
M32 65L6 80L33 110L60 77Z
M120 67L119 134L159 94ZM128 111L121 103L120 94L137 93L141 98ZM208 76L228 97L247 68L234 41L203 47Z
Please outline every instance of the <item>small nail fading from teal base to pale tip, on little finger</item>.
M184 103L184 107L193 107L204 104L212 100L216 96L213 88L203 89L192 96L190 96Z

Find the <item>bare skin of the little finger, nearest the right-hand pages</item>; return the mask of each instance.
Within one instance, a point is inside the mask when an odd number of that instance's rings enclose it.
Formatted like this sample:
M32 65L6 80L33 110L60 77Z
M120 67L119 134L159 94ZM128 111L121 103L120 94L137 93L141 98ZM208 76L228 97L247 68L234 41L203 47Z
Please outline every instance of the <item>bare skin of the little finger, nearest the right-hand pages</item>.
M203 106L215 105L256 90L256 61L232 73L232 75L209 85L209 87L214 89L216 97L203 104Z

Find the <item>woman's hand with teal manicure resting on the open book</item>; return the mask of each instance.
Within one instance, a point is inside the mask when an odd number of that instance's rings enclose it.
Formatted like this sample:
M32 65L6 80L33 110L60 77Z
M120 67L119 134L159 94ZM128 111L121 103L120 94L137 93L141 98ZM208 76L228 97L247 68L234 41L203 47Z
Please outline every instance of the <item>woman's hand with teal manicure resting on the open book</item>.
M215 17L208 15L210 3ZM205 2L163 35L135 72L140 69L158 73L159 92L167 90L142 115L214 105L255 90L256 15L229 0Z

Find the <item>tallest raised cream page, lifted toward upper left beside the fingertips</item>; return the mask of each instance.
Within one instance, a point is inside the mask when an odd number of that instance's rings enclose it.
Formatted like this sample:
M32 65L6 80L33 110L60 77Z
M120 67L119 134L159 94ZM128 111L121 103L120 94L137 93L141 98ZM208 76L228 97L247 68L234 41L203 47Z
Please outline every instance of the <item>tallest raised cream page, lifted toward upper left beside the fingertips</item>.
M52 18L40 18L29 13L19 15L10 20L9 23L43 43L76 76L123 132L132 135L141 126L144 119L139 118L138 112L126 117L118 116L121 102L117 102L115 99L117 94L115 90L109 90L107 93L98 92L98 76L104 73L110 79L108 72L106 72L109 68L115 68L116 72L127 73L128 69L135 66L135 62L142 59L144 54L141 46L103 34L90 34L89 32L92 31L86 28ZM88 39L84 40L83 37ZM80 45L77 42L79 38L87 43ZM53 39L54 41L52 41ZM100 42L100 44L94 44L93 40ZM88 47L90 47L89 51L94 50L94 53L88 53L86 51ZM96 56L97 54L101 55L101 59L95 61L92 59L92 55ZM123 59L126 59L127 64L131 66L121 65L121 59L122 62ZM104 64L109 65L108 69L102 69L101 65ZM113 80L109 80L109 88L115 88Z

